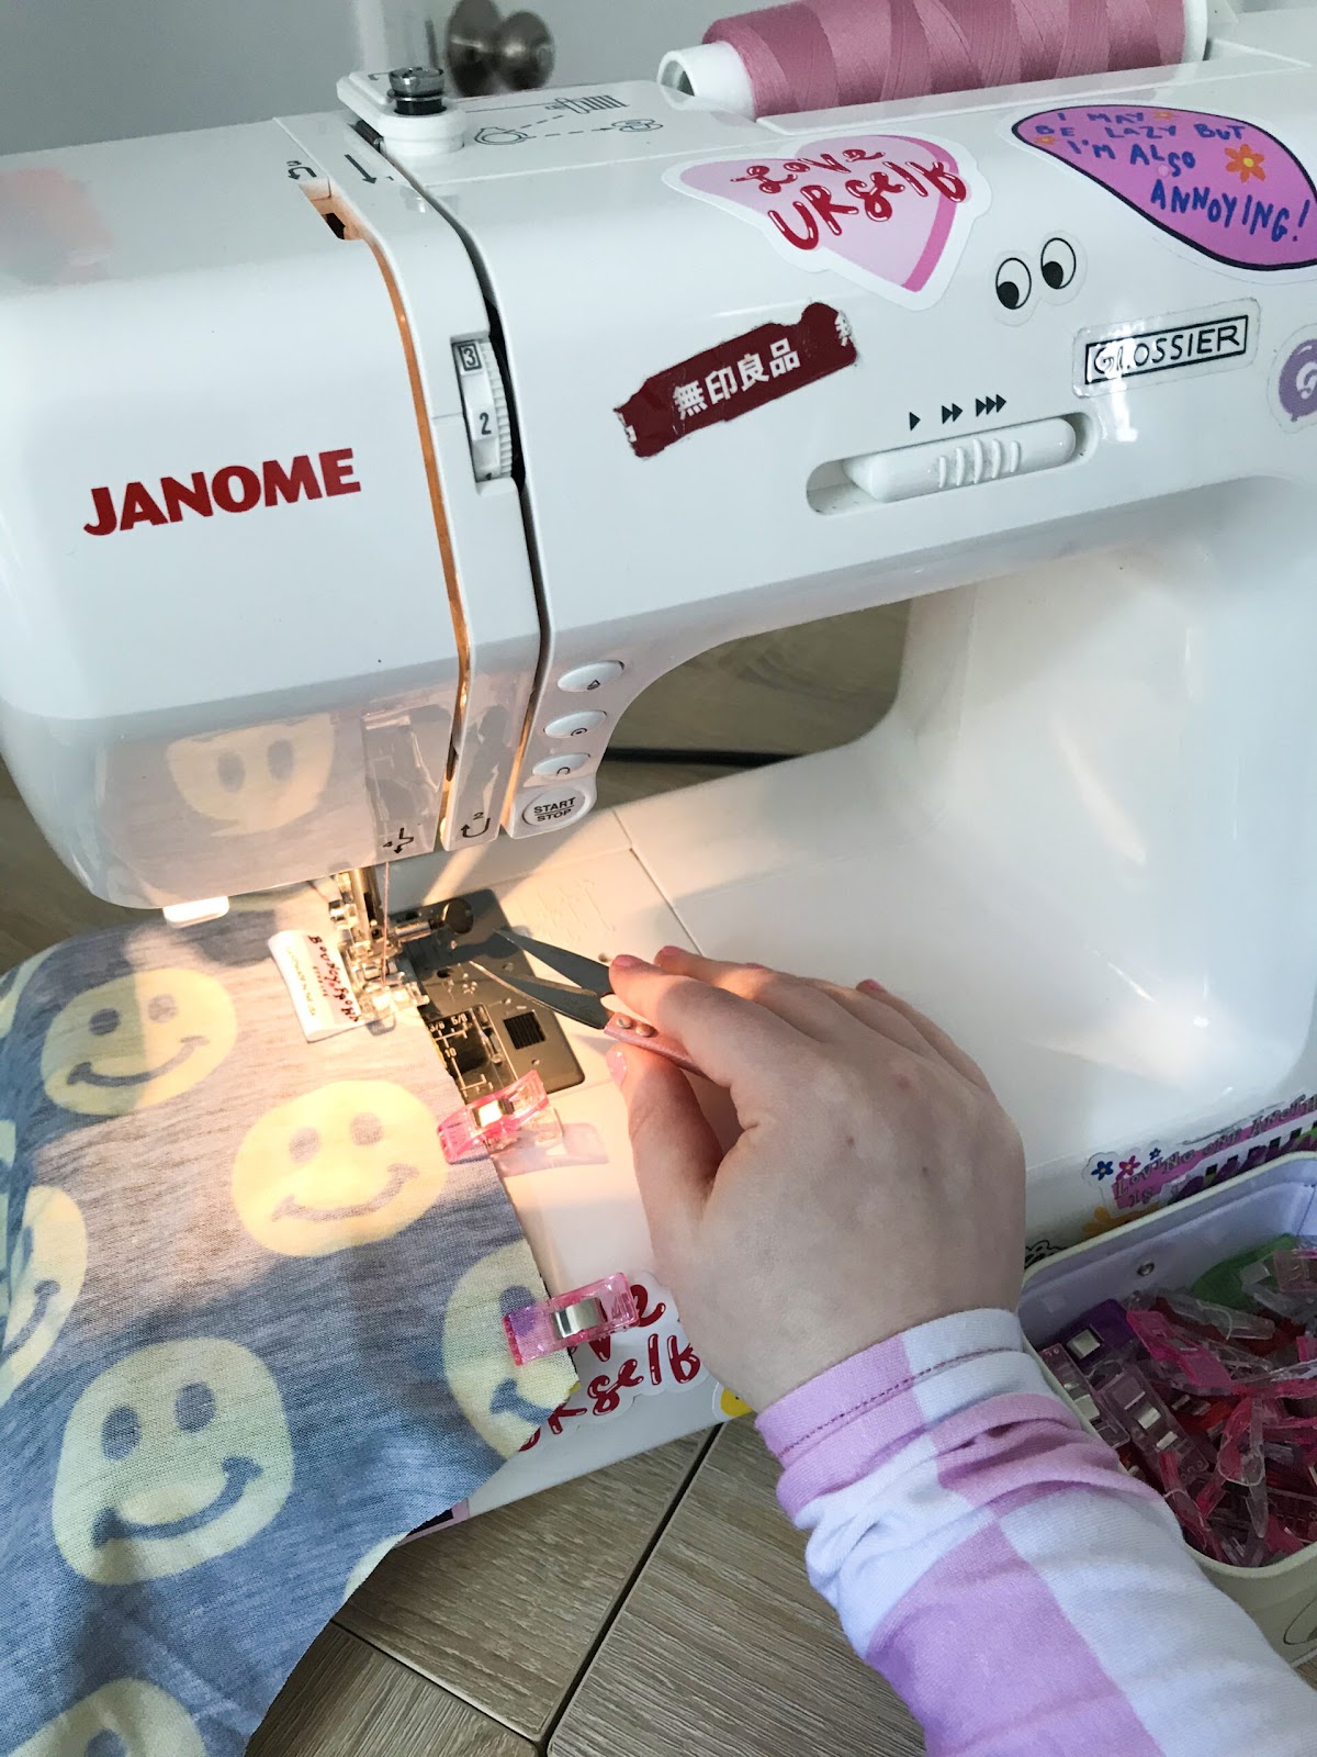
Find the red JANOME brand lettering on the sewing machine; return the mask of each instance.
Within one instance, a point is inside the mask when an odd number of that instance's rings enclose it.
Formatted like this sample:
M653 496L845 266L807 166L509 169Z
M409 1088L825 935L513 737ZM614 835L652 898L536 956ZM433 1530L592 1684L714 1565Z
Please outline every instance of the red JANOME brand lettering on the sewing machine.
M360 494L353 467L351 446L342 446L314 457L302 452L291 464L270 457L260 467L227 464L209 476L204 469L186 478L162 476L151 488L144 481L130 481L118 495L109 488L93 488L95 520L83 529L91 538L107 538L133 525L176 525L184 513L212 518L216 508L221 513L249 513L256 506Z

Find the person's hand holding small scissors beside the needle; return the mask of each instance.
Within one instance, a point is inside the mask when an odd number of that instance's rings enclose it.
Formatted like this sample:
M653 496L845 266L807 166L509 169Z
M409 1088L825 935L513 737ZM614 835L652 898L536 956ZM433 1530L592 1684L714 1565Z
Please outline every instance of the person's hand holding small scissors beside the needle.
M882 989L666 947L615 993L727 1091L723 1154L695 1091L609 1052L655 1267L709 1370L755 1409L911 1325L1015 1309L1024 1153L975 1063Z

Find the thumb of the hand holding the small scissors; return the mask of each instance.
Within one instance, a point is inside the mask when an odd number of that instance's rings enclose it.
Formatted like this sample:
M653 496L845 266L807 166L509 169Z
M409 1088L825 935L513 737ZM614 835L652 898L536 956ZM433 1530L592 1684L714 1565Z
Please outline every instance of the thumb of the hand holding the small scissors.
M615 1045L609 1070L627 1100L630 1151L655 1251L690 1239L722 1149L685 1074L644 1049Z

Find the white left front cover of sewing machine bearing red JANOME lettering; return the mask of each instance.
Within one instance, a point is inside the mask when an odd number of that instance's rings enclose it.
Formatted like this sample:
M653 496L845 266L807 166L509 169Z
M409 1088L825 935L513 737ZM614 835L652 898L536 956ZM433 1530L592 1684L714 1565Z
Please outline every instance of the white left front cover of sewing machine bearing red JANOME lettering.
M434 847L458 640L399 322L320 169L265 123L0 183L0 743L51 843L128 905Z

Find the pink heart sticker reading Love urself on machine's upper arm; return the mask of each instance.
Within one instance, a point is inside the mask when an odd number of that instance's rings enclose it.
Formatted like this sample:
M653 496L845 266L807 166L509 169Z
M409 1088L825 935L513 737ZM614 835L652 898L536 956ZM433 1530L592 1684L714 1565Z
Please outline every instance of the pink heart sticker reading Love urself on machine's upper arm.
M748 220L801 267L834 269L908 306L941 297L989 204L961 148L903 134L836 135L794 158L709 160L666 181Z

